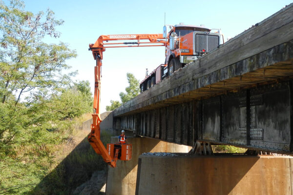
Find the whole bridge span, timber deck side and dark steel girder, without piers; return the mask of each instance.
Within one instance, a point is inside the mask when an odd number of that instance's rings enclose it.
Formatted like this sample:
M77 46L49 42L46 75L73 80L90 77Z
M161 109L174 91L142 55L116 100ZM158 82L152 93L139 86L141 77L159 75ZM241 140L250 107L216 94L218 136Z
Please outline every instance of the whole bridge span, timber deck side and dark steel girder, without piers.
M293 4L113 111L113 128L293 152Z

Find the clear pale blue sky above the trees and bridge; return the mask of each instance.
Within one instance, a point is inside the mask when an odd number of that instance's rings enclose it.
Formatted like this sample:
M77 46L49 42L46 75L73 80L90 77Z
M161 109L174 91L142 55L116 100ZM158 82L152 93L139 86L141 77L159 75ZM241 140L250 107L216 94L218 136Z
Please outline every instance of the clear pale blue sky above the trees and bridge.
M242 33L292 0L24 0L25 10L33 13L50 8L61 37L54 41L69 44L78 56L67 64L78 70L73 80L89 80L94 90L95 60L88 51L100 35L163 33L166 24L201 25L220 28L225 40ZM164 47L108 48L104 52L101 84L101 112L110 100L120 100L119 93L128 86L126 73L142 80L146 74L165 62Z

